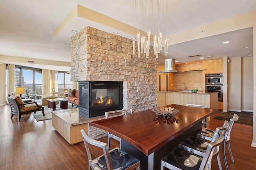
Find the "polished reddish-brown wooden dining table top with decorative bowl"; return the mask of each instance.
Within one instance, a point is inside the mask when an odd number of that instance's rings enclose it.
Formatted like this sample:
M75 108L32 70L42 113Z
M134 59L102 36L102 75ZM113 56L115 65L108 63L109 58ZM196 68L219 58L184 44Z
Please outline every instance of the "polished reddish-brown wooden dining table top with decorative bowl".
M158 114L152 110L102 119L89 125L108 131L134 145L147 156L166 143L190 129L202 119L218 112L218 109L206 109L171 104L168 107L179 109L176 113L179 122L156 121Z

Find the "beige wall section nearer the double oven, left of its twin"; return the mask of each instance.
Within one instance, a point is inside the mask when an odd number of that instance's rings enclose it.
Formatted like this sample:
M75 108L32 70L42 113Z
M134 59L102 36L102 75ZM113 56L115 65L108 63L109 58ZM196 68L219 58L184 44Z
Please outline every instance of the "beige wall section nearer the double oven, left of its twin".
M242 57L230 58L229 63L229 110L241 111Z

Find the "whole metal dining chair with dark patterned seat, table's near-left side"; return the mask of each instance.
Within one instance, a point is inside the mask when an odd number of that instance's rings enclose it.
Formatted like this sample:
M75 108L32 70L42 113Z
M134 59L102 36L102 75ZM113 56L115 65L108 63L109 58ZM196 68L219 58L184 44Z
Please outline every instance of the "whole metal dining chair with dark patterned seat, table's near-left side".
M108 151L108 145L106 143L91 139L86 135L84 129L81 130L81 133L88 156L89 170L90 168L92 170L140 170L140 160L132 157L118 147ZM98 157L95 156L96 158L92 159L89 144L102 148L104 154Z

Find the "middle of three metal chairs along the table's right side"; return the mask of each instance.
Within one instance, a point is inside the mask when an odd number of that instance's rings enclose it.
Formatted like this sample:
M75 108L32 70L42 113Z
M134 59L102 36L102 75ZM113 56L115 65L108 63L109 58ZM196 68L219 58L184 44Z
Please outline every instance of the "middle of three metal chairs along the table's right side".
M224 131L226 131L226 129L228 128L229 123L228 121L224 121L224 125L222 127L218 127L216 129L222 131L222 134L224 133ZM216 131L214 132L214 135L216 135ZM212 141L214 141L214 139L216 138L216 136L212 137ZM182 141L181 143L179 143L179 148L183 149L183 150L187 150L188 152L192 152L198 156L204 156L204 154L206 153L207 147L209 145L209 142L207 142L204 139L200 139L198 137L195 136L190 136L188 138L186 138L184 141ZM222 166L220 163L220 147L217 147L216 149L214 149L213 155L217 154L217 160L218 160L218 165L219 165L219 169L222 170Z

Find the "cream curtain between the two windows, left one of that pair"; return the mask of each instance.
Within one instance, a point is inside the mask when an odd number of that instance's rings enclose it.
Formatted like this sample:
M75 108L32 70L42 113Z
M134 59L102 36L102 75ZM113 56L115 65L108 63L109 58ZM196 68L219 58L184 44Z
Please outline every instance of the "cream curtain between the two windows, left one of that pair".
M51 96L51 70L42 69L42 90L46 92L46 96Z

